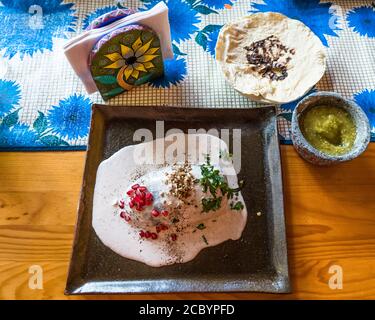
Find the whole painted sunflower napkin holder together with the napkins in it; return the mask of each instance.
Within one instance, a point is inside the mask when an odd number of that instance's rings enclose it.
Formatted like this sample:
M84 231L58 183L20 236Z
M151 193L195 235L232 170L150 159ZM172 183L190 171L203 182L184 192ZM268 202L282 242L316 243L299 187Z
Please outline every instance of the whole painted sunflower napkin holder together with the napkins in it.
M109 12L64 50L88 93L108 100L163 76L163 59L173 58L168 8L162 2L144 12Z

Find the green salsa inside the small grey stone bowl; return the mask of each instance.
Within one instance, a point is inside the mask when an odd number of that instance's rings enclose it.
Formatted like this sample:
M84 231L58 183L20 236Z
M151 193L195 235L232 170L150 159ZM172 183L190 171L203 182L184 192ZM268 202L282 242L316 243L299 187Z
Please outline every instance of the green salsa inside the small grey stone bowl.
M343 155L353 148L356 127L352 116L334 106L316 106L301 117L301 130L305 139L328 155Z

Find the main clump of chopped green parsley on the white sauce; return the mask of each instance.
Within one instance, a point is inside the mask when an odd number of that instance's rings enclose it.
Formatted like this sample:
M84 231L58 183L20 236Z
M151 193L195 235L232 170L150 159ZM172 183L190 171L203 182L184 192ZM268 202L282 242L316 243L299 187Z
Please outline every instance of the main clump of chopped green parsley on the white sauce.
M238 192L243 187L243 181L240 181L239 188L230 188L224 176L220 174L220 171L211 165L209 155L206 158L206 163L201 165L201 174L202 178L200 178L199 183L202 186L203 192L210 192L211 194L210 197L202 199L203 212L216 211L220 209L221 200L224 196L226 196L228 199L232 199L234 196L238 195ZM220 195L217 194L218 191L220 191ZM240 202L236 203L236 208L239 208L240 206L238 203Z

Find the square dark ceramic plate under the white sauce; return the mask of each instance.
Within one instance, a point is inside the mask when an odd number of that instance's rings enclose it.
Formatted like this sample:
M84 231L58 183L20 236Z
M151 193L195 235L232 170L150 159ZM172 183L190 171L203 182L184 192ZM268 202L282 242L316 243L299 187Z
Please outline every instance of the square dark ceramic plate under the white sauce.
M134 144L135 130L241 129L242 191L248 221L237 241L201 251L185 264L161 268L123 258L105 247L92 225L100 162ZM155 136L155 135L154 135ZM232 141L230 139L230 141ZM258 216L257 212L262 215ZM290 291L276 110L116 107L94 105L66 294Z

